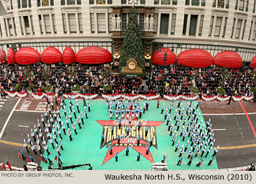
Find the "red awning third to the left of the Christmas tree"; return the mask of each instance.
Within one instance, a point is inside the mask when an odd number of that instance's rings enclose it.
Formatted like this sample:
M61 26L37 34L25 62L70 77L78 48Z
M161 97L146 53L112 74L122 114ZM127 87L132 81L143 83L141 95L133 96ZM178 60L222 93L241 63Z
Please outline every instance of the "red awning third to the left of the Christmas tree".
M41 61L45 64L59 63L62 61L62 54L56 47L47 47L41 54Z

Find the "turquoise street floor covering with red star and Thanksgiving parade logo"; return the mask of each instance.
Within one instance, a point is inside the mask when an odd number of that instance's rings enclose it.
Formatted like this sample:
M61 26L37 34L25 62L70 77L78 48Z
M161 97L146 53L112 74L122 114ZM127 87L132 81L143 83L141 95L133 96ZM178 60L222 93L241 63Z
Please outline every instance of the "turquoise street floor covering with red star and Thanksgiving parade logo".
M69 112L68 100L66 99L66 110ZM83 101L78 100L80 110L84 110ZM135 144L132 148L129 149L129 156L125 156L125 147L126 144L117 145L116 134L124 134L121 129L121 132L118 131L118 126L116 122L115 115L113 113L113 119L110 120L108 114L108 105L102 99L91 100L89 101L91 104L91 112L88 112L88 119L84 118L85 124L81 123L82 129L79 129L78 125L77 131L78 134L75 135L75 132L72 129L72 142L69 141L69 137L67 135L64 136L62 132L62 143L64 150L61 150L61 161L63 162L63 166L70 166L73 164L91 164L94 170L116 170L116 169L151 169L152 162L161 162L163 156L167 156L165 159L165 163L167 163L168 170L175 169L218 169L217 160L214 159L214 162L211 166L208 166L208 161L210 160L214 150L211 150L211 153L208 154L208 157L205 158L203 156L203 164L200 167L197 167L196 164L200 161L200 156L194 158L191 166L187 166L187 162L189 161L188 152L190 150L187 149L186 153L183 153L184 160L182 161L181 166L177 166L178 155L181 146L178 151L175 152L175 145L172 146L172 137L170 137L170 132L167 131L165 115L161 114L162 104L165 103L165 108L169 107L170 101L160 101L159 109L157 109L157 100L149 101L148 111L143 114L141 120L143 123L146 123L150 126L150 130L148 131L148 136L143 137L140 136L140 146L138 146L136 137L138 135L138 127L136 130L132 130L132 134L129 139L125 139L124 142L133 142ZM146 101L140 101L140 107L143 107L143 103ZM72 103L75 105L75 100L72 100ZM196 101L193 101L192 107ZM171 112L171 118L174 117L175 108L177 108L178 101L175 101L175 105ZM183 107L187 110L187 106L189 101L182 101ZM115 106L113 105L114 111ZM75 108L77 111L77 109ZM88 109L87 109L88 111ZM199 109L201 114L201 111ZM68 113L67 113L68 115ZM72 114L73 115L73 114ZM78 116L78 113L77 113ZM200 120L203 119L203 115L200 115ZM65 123L64 112L61 111L61 120ZM140 120L140 119L139 119ZM75 121L75 117L73 118ZM181 121L182 122L182 121ZM140 128L140 134L144 134L145 125ZM204 120L203 120L204 123ZM69 123L70 125L71 123ZM111 137L110 127L114 126L114 136ZM181 126L182 127L182 126ZM180 127L180 129L181 129ZM205 125L206 127L206 125ZM187 123L185 123L185 128L187 128ZM66 126L67 129L67 126ZM116 132L117 131L117 132ZM105 142L101 145L101 135L105 134ZM155 137L153 146L151 147L150 154L146 155L146 147L145 145L149 145L148 139L150 137ZM59 139L59 137L57 138ZM186 137L184 142L182 142L181 137L179 137L179 132L177 134L177 142L180 140L181 145L186 145L187 139ZM113 155L109 155L108 145L113 144ZM117 146L115 146L117 145ZM132 145L132 144L130 144ZM53 161L53 168L57 166L56 161L54 161L54 157L56 156L56 150L53 150L53 147L48 143L49 151L50 151L50 159ZM207 147L208 148L208 147ZM114 158L114 152L118 151L118 161L116 162ZM137 161L138 151L140 151L140 161ZM195 155L195 153L194 153ZM45 154L46 156L46 154ZM41 163L43 169L48 169L48 164ZM79 170L87 170L89 167L85 166L83 168L78 167L76 169Z

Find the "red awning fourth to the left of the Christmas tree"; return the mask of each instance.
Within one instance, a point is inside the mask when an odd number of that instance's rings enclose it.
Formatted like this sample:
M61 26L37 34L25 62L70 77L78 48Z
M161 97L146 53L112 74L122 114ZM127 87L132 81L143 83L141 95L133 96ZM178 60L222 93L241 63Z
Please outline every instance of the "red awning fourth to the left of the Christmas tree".
M35 64L40 61L40 54L31 47L22 47L15 55L18 64Z

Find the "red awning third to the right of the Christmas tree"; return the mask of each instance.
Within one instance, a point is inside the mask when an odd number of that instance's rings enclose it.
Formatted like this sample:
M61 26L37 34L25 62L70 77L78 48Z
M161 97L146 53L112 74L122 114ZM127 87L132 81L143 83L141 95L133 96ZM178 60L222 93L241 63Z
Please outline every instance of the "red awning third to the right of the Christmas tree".
M214 57L214 64L229 69L239 69L243 66L241 56L233 51L223 51Z

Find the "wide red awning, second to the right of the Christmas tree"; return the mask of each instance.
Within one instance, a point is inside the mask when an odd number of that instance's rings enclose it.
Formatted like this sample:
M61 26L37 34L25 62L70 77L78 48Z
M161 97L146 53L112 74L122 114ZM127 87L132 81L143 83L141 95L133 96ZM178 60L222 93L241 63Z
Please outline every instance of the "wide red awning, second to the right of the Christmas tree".
M214 64L214 58L206 50L190 49L178 55L177 63L193 68L206 68Z

